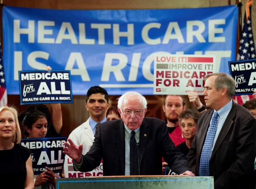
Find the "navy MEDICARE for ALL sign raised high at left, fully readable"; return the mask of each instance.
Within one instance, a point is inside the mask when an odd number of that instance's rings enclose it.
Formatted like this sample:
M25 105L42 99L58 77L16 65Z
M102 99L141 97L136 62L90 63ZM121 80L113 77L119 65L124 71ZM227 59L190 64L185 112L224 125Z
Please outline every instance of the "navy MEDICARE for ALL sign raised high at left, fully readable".
M19 71L20 104L73 103L70 70Z

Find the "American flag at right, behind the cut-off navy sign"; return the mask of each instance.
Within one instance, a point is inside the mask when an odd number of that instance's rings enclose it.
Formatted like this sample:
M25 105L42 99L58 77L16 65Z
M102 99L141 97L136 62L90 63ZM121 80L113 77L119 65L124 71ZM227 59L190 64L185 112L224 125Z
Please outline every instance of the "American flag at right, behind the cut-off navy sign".
M252 20L251 20L251 6L249 8L250 16L246 18L246 12L244 13L244 26L242 34L240 35L240 44L238 50L238 60L248 60L256 58L255 45L252 35ZM240 95L235 96L235 101L242 105L245 101L253 98L252 95Z

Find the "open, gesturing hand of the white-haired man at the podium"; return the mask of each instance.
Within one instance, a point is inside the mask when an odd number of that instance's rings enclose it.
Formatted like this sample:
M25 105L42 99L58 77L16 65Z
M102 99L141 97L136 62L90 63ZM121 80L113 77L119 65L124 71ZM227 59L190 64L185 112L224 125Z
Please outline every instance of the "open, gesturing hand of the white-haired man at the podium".
M71 139L68 139L67 142L64 142L65 147L63 148L63 154L67 154L69 157L75 160L76 163L81 163L81 157L83 152L83 144L76 146Z

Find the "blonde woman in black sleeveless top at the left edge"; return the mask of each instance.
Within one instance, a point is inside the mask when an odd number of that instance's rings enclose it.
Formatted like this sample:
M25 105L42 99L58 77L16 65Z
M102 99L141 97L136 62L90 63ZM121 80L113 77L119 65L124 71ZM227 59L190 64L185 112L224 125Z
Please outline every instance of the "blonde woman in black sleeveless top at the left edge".
M30 150L19 145L21 131L17 111L0 108L0 175L7 188L34 188Z

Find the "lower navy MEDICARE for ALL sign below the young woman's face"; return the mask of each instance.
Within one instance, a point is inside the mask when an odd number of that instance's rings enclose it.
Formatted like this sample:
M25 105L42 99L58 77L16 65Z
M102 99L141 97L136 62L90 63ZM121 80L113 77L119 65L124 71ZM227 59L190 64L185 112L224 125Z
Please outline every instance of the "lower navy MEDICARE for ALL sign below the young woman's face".
M31 150L34 175L49 167L53 172L62 172L65 154L62 153L66 137L22 139L21 145Z

